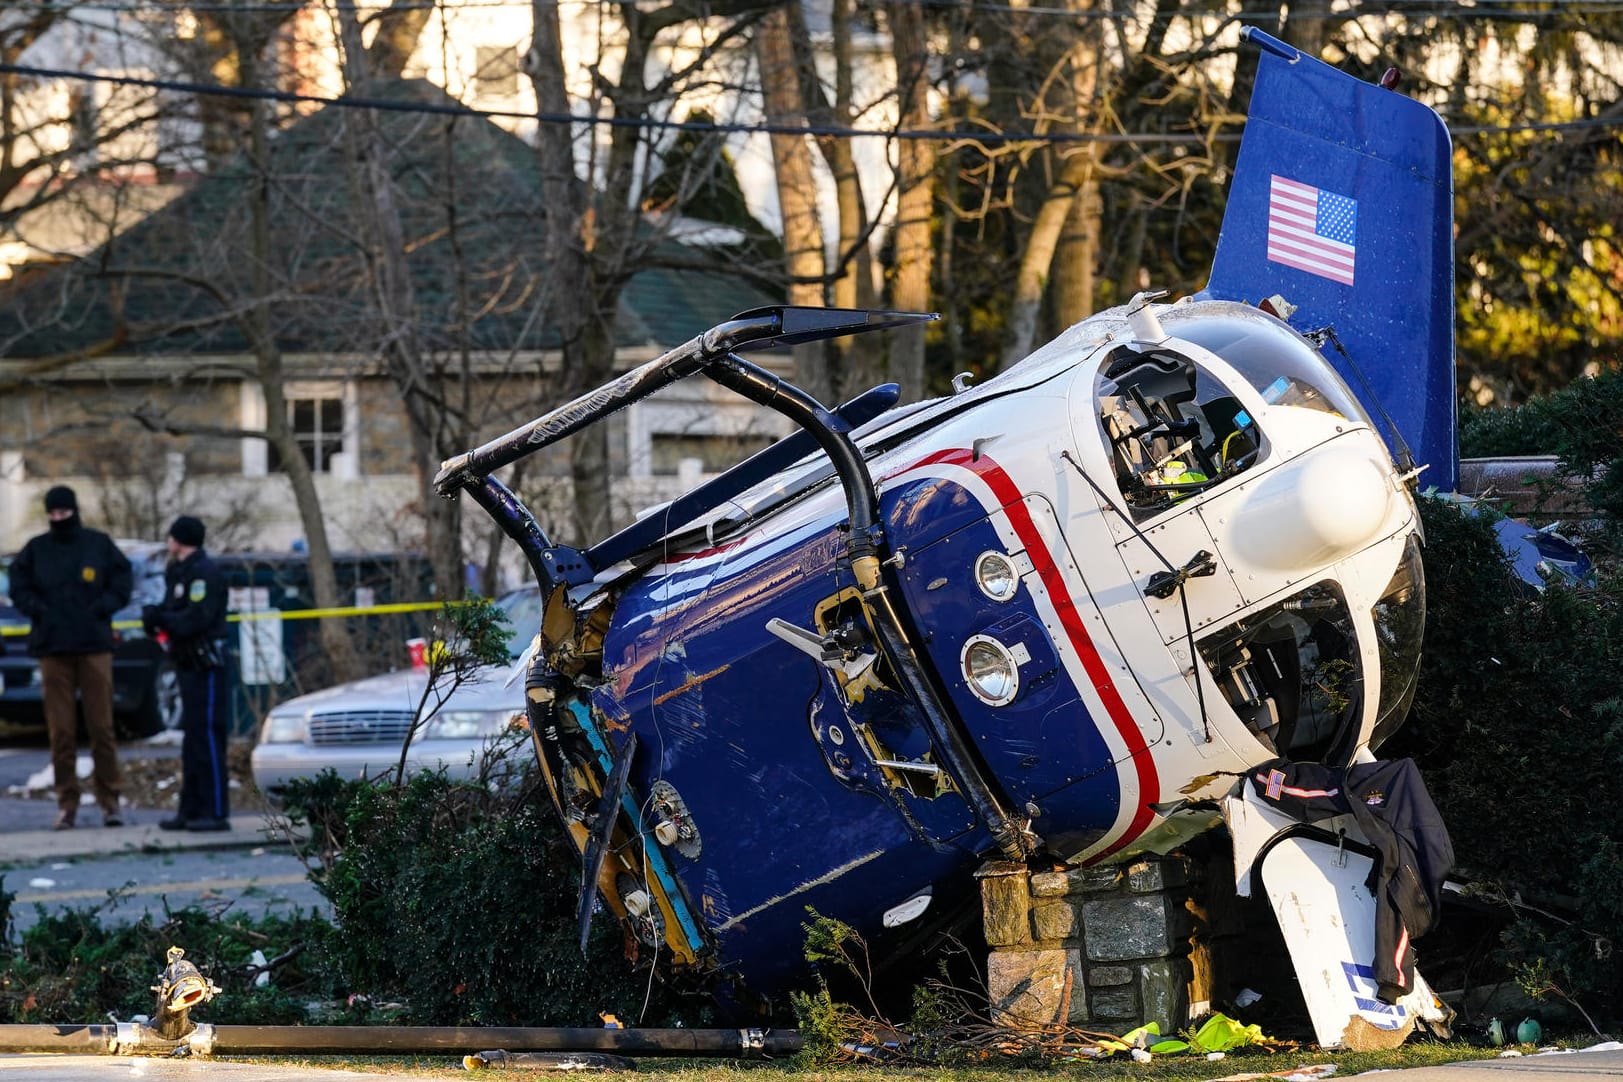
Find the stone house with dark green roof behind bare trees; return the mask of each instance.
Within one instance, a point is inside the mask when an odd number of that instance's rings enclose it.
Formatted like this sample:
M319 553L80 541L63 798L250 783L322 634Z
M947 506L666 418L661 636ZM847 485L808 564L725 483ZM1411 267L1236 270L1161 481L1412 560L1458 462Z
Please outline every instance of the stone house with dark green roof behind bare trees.
M427 83L391 92L450 101ZM42 529L39 496L58 482L80 490L88 521L120 535L161 535L183 509L214 526L219 548L297 545L291 487L274 451L250 435L265 427L266 350L250 344L261 311L336 548L420 545L404 394L430 396L477 443L579 391L544 320L550 260L536 151L480 118L377 114L415 298L409 326L386 326L357 240L357 200L368 196L344 165L342 112L323 109L276 135L263 174L243 161L200 177L86 260L5 284L0 552ZM256 269L248 196L261 178L271 235ZM628 276L620 367L773 302L725 273L748 258L747 245L695 235L706 245L664 238ZM401 333L419 342L419 386L403 388L383 360L380 342ZM776 415L703 380L628 407L607 433L622 479L615 519L779 433ZM558 456L510 483L542 517L566 506ZM482 516L467 517L471 532L482 529Z

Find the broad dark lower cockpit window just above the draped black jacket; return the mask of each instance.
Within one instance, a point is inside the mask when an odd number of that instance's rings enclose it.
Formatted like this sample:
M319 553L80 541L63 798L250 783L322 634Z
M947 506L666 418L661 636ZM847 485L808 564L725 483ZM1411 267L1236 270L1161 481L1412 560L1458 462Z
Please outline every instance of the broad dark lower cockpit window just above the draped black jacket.
M1199 642L1224 698L1276 754L1341 766L1363 714L1347 602L1318 582Z

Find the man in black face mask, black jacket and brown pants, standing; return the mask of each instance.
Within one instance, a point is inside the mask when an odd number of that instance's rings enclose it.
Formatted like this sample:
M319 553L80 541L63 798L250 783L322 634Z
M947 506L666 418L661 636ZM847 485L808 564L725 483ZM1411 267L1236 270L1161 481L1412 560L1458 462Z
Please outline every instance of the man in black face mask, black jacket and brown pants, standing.
M110 537L80 522L78 498L67 485L45 493L45 517L50 532L29 540L11 561L11 603L28 616L28 652L39 659L57 774L57 829L71 827L80 813L76 707L84 711L102 822L122 826L112 615L130 603L130 561Z

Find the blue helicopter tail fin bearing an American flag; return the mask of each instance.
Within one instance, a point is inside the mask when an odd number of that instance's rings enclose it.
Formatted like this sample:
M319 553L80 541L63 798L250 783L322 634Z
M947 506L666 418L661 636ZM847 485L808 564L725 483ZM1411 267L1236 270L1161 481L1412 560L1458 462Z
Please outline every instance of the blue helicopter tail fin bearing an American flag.
M1454 183L1443 120L1246 28L1261 47L1206 295L1295 305L1394 453L1457 479ZM1281 313L1284 315L1284 313Z

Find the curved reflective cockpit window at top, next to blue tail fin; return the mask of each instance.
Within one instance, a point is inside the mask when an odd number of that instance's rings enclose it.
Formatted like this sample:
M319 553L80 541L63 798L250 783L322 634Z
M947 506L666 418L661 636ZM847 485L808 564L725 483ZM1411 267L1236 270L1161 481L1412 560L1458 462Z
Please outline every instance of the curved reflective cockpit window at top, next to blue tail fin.
M1261 313L1173 318L1167 331L1222 357L1264 402L1370 422L1329 362L1300 334Z

